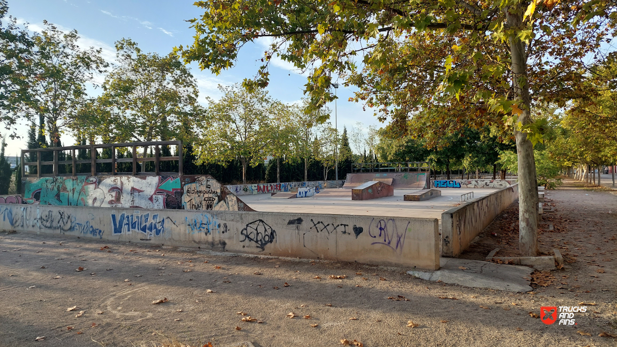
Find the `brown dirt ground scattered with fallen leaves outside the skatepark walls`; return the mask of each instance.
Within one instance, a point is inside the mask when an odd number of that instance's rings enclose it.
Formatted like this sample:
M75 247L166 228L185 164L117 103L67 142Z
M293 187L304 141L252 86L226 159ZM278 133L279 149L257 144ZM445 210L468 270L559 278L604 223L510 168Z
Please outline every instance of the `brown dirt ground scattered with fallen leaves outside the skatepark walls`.
M568 183L547 196L555 211L543 222L555 230L540 247L567 262L531 293L426 282L403 268L2 233L0 346L615 346L598 334L617 335L617 195ZM465 256L515 253L517 214L511 206ZM589 311L574 326L545 325L529 314L540 306Z

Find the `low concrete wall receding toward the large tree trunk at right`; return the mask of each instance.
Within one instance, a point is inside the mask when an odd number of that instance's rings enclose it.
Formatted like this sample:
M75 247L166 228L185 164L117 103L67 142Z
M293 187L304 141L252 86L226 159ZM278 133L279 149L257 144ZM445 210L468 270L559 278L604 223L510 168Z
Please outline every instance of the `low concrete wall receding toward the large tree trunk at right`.
M441 214L441 254L461 254L479 233L518 199L518 183Z

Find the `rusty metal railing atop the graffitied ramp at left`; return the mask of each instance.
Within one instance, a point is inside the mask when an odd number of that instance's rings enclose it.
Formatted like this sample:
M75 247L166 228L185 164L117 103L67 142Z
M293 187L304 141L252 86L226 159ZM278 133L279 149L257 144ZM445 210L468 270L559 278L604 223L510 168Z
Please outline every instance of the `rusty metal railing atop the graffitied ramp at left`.
M160 156L160 151L163 146L176 146L176 156ZM143 148L143 153L138 153L138 147ZM147 157L147 150L154 147L154 156ZM129 148L131 157L118 157L118 154L124 153L123 148ZM99 149L101 153L99 154ZM109 149L109 153L106 153L107 158L102 158L104 150ZM61 154L66 155L68 151L70 160L60 161ZM90 151L89 159L78 159L75 156L76 151ZM53 153L53 161L42 161L41 157L45 153ZM36 156L36 161L26 161ZM149 142L129 142L129 143L104 143L104 144L89 144L84 146L69 146L69 147L51 147L51 148L36 148L36 149L22 149L22 172L23 177L54 177L54 176L77 176L77 175L182 175L182 143L181 141L149 141ZM162 172L160 171L160 162L162 161L175 161L178 162L178 172ZM133 172L118 172L118 163L132 163ZM154 171L144 171L146 162L154 162ZM111 164L111 172L99 172L97 171L96 164ZM141 163L141 169L138 170L138 163ZM78 172L77 165L84 164L90 165L89 172ZM52 166L52 172L43 173L44 167ZM60 165L65 165L65 169L70 165L70 170L65 170L65 173L60 174ZM103 167L103 165L99 165ZM28 170L25 168L28 167ZM31 170L31 167L36 167L36 173Z

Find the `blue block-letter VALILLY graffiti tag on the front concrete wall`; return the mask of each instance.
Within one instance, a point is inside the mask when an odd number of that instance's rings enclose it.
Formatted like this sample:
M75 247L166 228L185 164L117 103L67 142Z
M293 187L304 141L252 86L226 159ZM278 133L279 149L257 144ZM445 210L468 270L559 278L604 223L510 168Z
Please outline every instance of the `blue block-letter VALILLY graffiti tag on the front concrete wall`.
M150 239L152 236L162 236L165 232L165 217L156 213L112 213L111 217L114 236L136 232L143 233L144 239Z

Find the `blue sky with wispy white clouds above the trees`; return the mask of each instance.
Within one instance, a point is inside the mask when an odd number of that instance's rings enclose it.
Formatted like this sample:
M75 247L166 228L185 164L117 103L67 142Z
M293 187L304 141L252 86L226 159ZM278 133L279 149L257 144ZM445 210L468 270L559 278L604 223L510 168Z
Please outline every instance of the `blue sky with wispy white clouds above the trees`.
M203 13L202 9L193 5L194 0L9 0L9 15L18 22L28 23L32 31L43 28L43 20L53 23L62 30L77 30L81 36L81 48L93 46L102 48L102 56L109 62L115 59L115 41L131 38L143 51L168 54L175 46L187 46L194 41L195 31L190 28L188 19L193 19ZM217 86L239 83L244 78L251 78L262 64L266 41L247 44L241 49L238 61L232 69L225 70L220 75L214 75L209 70L201 70L197 64L189 65L196 77L199 87L200 101L205 96L218 99L221 96ZM373 111L362 104L349 102L354 96L354 89L346 88L339 82L337 90L337 123L339 130L344 126L350 128L357 122L364 127L381 126ZM297 102L303 96L306 77L299 74L294 67L280 59L273 59L270 67L270 85L268 92L273 98L283 102ZM92 95L99 90L91 91ZM331 122L334 124L334 104L328 105L333 111ZM14 156L25 148L27 126L18 127L18 140L7 138L6 154ZM63 135L65 146L72 145L70 136Z

